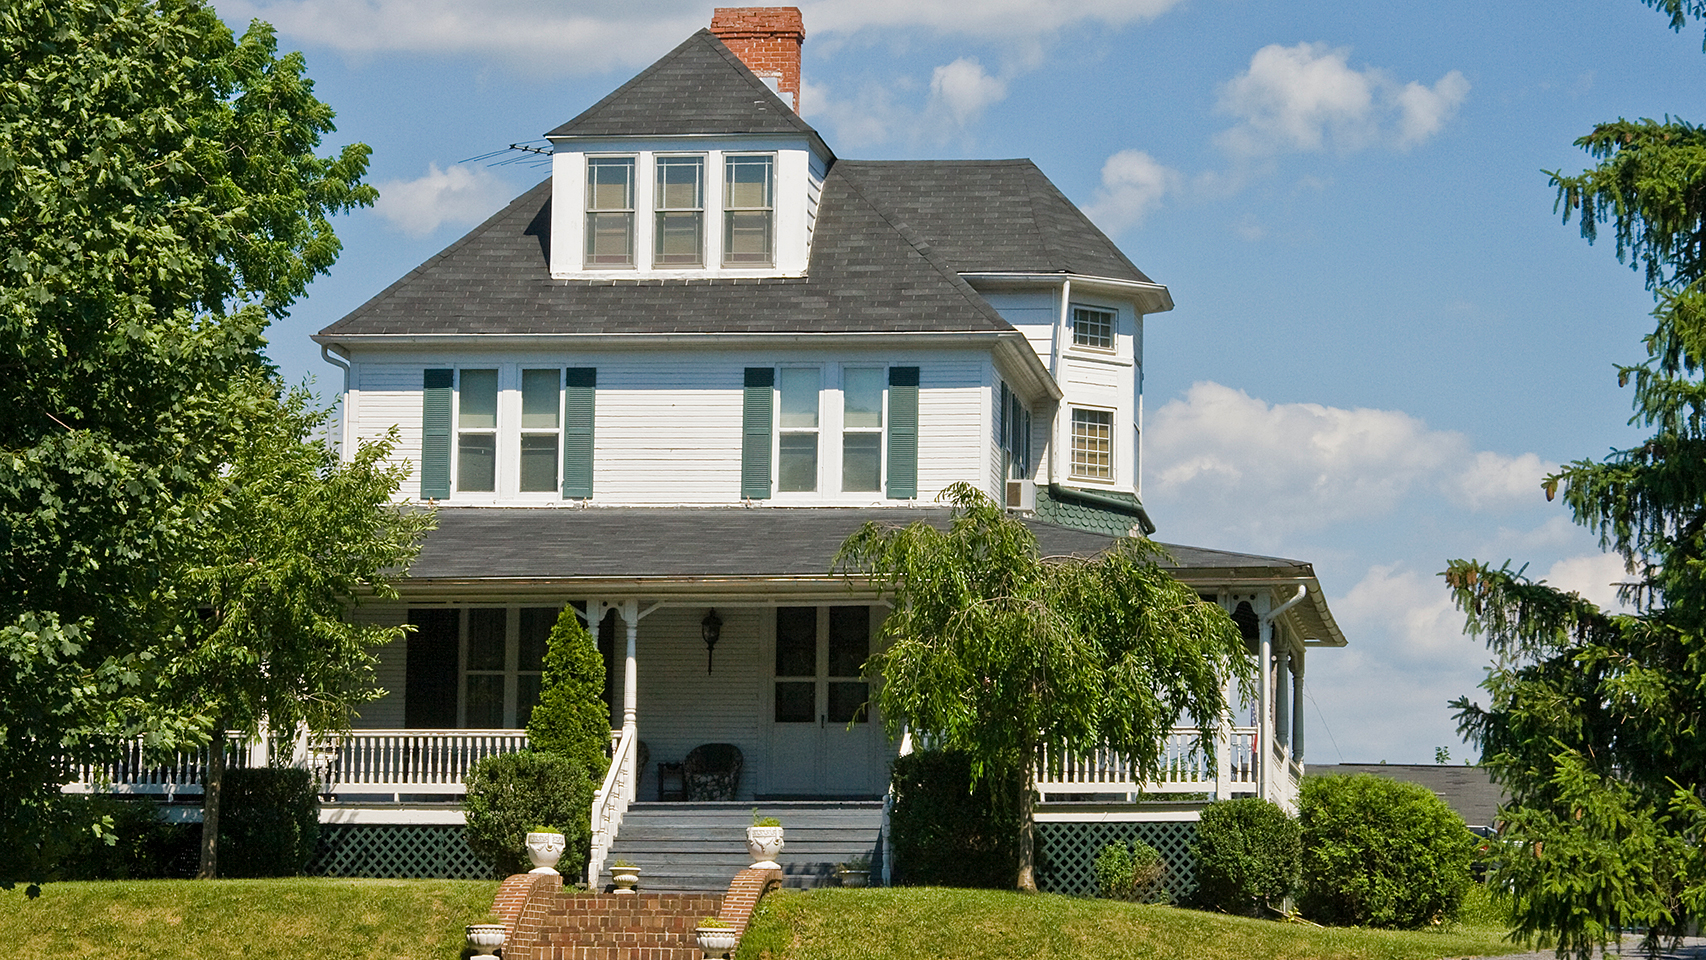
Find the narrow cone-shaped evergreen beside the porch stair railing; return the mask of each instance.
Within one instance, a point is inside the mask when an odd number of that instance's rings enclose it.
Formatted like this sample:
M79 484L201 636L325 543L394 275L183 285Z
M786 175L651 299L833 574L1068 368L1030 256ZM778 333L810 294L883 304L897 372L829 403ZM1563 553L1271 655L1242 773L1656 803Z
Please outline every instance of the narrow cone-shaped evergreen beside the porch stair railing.
M599 641L563 607L544 653L539 704L527 720L534 750L578 764L594 783L611 766L611 709L604 703L604 656ZM585 818L585 817L583 817Z

